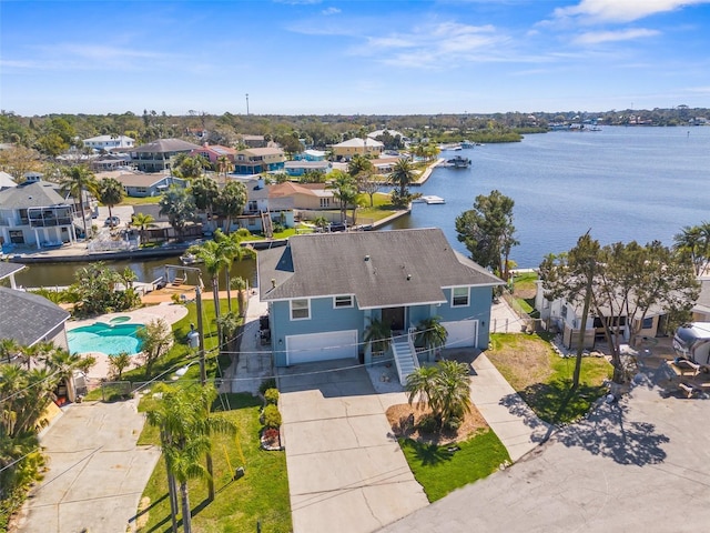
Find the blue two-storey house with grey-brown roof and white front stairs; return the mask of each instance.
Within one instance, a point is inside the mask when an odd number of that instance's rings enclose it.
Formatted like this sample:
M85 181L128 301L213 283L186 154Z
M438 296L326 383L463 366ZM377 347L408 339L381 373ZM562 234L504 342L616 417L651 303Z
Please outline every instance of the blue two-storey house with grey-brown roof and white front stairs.
M448 348L486 349L493 288L503 284L455 252L439 229L295 235L258 252L257 275L277 366L377 362L364 342L371 320L404 335L404 344L390 344L397 369L413 362L409 329L433 316Z

